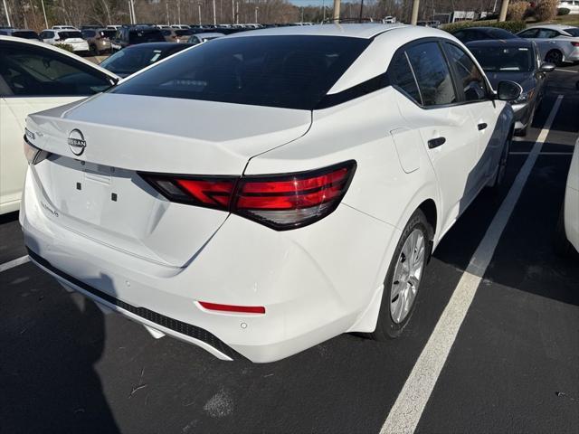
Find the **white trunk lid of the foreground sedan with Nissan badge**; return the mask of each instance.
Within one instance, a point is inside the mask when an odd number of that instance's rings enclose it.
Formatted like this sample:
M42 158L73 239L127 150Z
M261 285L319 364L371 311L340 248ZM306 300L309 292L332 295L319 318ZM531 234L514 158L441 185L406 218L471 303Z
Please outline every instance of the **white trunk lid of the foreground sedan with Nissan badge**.
M33 170L59 224L183 267L228 214L170 203L138 172L242 175L252 156L302 136L310 122L306 110L105 94L31 115L27 127L34 146L52 153Z

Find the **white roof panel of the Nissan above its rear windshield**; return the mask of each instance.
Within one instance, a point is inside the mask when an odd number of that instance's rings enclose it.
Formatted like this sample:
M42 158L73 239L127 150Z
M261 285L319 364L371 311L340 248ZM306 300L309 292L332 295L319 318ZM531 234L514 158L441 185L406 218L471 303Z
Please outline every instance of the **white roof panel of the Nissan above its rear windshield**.
M288 27L270 27L248 32L233 33L226 37L273 36L273 35L311 35L311 36L349 36L352 38L371 39L380 33L387 32L405 24L316 24L295 25Z

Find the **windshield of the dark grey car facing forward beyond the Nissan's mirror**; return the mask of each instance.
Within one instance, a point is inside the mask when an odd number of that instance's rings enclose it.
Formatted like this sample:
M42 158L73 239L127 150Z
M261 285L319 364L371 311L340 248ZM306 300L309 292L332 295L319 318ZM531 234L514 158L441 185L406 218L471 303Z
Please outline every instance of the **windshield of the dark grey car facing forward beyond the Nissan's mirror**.
M533 51L527 47L469 47L484 71L527 72L533 70Z

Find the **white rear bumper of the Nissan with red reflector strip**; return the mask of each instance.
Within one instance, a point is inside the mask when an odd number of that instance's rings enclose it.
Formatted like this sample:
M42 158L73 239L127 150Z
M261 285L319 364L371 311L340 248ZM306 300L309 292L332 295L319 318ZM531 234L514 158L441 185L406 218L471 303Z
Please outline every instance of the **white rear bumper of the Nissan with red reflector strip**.
M273 362L345 332L373 331L367 321L356 325L381 291L385 258L399 237L346 205L324 219L323 231L317 224L272 231L231 215L184 267L171 267L63 227L47 201L29 170L20 222L41 268L64 286L223 360L241 354ZM197 301L263 306L266 313L216 313Z

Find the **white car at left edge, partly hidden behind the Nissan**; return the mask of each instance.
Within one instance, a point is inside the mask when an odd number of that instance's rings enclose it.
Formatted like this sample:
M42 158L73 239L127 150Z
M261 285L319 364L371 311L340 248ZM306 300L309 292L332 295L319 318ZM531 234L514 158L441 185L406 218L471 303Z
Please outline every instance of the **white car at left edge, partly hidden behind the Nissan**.
M24 186L24 120L105 90L119 78L42 42L0 36L0 214L17 211Z

